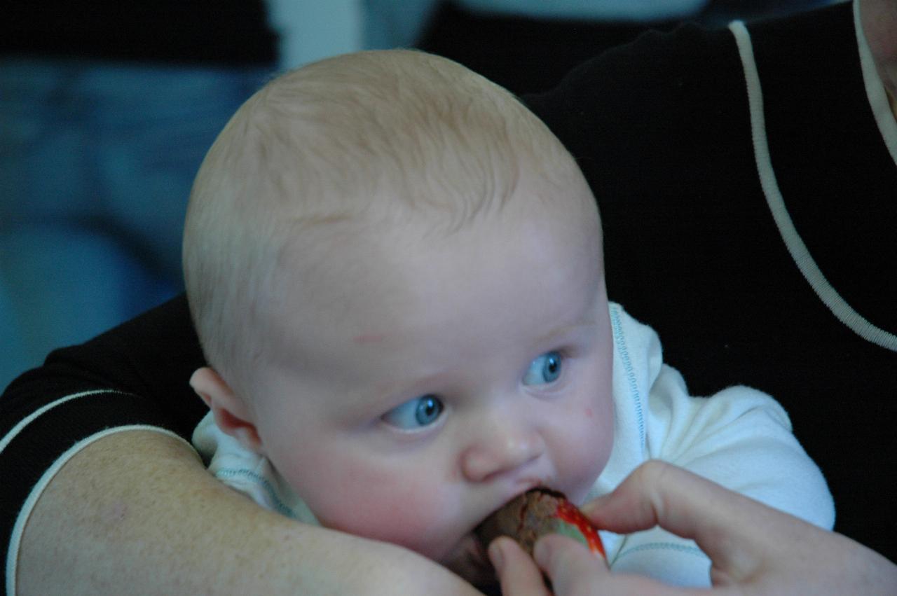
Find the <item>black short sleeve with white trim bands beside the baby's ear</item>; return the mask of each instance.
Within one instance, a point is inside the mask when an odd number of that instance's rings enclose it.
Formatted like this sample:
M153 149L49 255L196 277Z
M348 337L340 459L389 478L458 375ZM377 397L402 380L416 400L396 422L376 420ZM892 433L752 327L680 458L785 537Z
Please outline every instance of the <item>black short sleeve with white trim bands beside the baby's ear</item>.
M5 389L0 560L7 587L15 578L22 530L56 471L124 428L188 437L204 410L190 394L189 367L203 361L180 297L91 341L54 351Z

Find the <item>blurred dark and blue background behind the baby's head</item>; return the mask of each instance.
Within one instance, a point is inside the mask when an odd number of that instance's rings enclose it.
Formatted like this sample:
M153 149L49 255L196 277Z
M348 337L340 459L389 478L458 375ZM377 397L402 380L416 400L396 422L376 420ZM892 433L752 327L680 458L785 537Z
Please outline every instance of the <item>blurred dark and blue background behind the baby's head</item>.
M181 289L192 179L284 68L416 46L518 93L683 19L824 0L13 0L0 24L0 388Z

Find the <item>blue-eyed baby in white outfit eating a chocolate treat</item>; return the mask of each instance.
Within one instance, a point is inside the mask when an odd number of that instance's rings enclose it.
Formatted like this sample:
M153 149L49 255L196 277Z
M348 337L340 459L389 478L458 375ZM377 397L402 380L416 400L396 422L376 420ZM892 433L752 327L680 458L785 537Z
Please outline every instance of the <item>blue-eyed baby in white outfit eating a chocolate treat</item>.
M300 522L474 579L472 531L510 498L581 504L660 458L832 526L785 412L746 387L688 395L608 302L575 161L461 65L363 52L270 82L200 168L184 266L209 362L195 445ZM710 582L690 541L604 540L615 570Z

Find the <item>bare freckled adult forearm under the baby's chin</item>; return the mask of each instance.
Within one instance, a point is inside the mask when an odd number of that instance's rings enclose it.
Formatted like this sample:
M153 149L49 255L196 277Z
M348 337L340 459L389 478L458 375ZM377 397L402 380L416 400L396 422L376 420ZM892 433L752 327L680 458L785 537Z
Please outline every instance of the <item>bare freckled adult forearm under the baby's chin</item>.
M326 573L321 570L326 569ZM21 594L475 594L404 548L309 527L224 487L179 438L85 447L22 537Z

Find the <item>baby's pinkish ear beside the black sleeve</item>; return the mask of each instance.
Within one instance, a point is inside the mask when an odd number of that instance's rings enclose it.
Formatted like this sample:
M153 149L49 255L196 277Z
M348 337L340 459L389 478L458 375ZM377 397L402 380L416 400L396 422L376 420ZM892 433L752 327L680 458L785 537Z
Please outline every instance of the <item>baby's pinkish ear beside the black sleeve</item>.
M190 376L190 386L212 410L215 424L222 432L237 439L250 451L263 453L262 440L246 404L218 373L209 367L197 368Z

